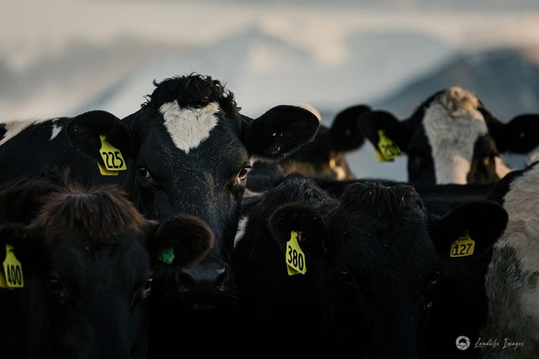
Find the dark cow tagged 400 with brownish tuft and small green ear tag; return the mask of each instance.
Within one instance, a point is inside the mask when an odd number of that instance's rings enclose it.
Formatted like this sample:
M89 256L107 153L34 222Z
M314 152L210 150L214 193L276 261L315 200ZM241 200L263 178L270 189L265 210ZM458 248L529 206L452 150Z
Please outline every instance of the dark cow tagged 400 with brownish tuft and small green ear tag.
M147 358L153 267L196 263L209 227L147 220L115 186L10 184L0 191L1 357Z

